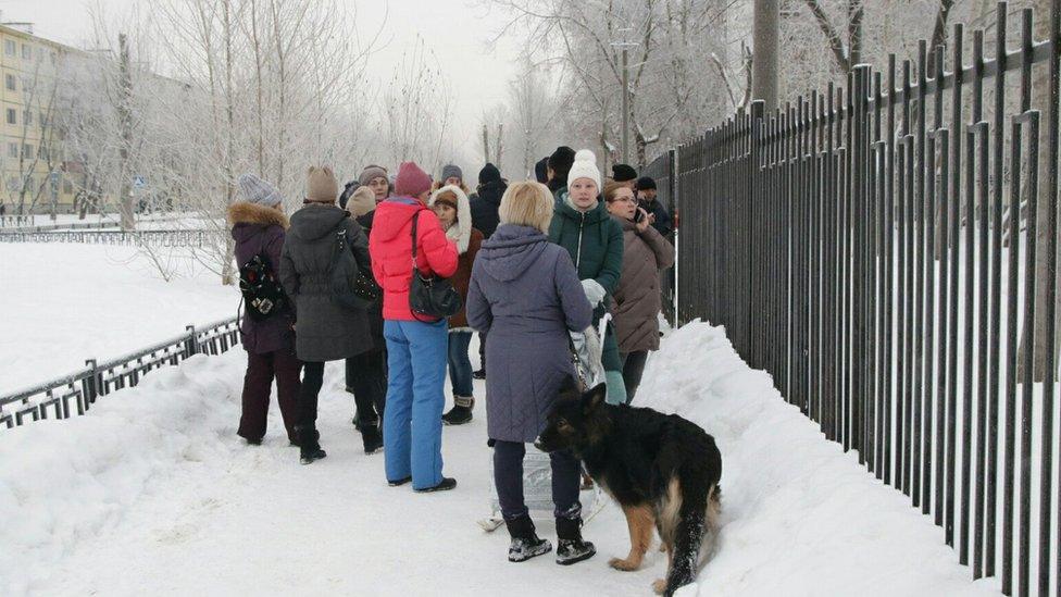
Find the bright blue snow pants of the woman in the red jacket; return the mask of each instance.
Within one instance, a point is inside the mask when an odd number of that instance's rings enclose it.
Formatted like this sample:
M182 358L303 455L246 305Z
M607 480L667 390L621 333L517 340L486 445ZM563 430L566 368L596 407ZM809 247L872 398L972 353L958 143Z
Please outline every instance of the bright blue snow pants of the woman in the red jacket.
M387 408L383 415L388 481L413 477L413 489L442 481L442 408L449 333L446 320L384 322Z

